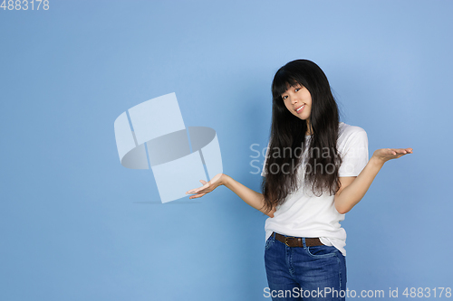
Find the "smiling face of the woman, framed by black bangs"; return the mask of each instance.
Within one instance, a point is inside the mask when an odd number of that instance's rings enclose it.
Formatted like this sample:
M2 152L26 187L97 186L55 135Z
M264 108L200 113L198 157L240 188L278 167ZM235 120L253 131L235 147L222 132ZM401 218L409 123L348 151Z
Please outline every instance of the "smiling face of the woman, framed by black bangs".
M282 94L284 106L294 116L309 120L312 111L312 96L304 86L296 84L294 87L288 85L288 89Z

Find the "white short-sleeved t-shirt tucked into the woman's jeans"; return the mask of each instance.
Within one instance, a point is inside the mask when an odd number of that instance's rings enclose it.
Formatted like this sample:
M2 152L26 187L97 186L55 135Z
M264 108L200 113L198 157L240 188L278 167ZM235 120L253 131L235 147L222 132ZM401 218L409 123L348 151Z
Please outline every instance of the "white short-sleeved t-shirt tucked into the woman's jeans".
M367 133L361 127L340 122L339 134L337 149L342 155L342 165L338 174L340 177L357 176L369 161ZM307 142L310 138L311 136L305 137ZM305 148L304 162L297 170L301 175L300 179L304 179L307 151L308 144ZM266 158L268 153L267 149ZM264 169L261 175L265 176ZM304 184L302 183L300 187L304 187ZM334 195L329 193L317 197L310 189L304 191L302 188L288 194L284 203L276 207L274 218L265 221L265 240L273 231L295 237L317 237L324 245L334 246L346 256L344 249L346 231L340 224L340 221L344 220L344 214L337 212L333 199Z

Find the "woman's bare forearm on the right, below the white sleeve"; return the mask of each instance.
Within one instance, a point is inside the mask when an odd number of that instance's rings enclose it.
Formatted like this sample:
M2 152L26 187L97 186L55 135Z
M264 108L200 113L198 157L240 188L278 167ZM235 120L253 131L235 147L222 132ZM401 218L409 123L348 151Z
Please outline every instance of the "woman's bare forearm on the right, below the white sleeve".
M358 202L361 201L365 193L371 186L372 181L379 173L383 163L371 156L368 164L363 168L354 181L335 196L335 208L340 213L349 212Z

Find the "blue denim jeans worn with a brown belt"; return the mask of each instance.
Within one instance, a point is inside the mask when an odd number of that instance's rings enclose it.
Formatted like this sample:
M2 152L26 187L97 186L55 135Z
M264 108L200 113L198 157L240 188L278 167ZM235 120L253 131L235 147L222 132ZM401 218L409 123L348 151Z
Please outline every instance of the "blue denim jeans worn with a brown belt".
M333 246L288 247L275 240L265 242L265 272L272 300L345 300L346 259Z

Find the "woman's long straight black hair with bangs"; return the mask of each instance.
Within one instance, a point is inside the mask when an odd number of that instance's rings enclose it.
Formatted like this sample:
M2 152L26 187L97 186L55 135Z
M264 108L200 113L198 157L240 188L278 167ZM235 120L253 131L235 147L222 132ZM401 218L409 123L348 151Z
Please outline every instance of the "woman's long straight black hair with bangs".
M307 141L307 122L294 116L282 99L289 87L297 85L308 89L312 97L309 121L313 132ZM275 205L282 204L288 194L300 187L302 173L297 171L303 165L304 157L307 158L305 187L311 186L317 196L325 191L331 195L338 192L338 170L342 164L337 150L340 117L324 72L313 61L290 61L275 73L272 95L272 125L265 178L261 184L265 210L269 212ZM288 155L288 151L291 154Z

